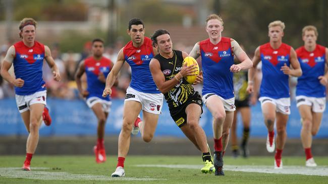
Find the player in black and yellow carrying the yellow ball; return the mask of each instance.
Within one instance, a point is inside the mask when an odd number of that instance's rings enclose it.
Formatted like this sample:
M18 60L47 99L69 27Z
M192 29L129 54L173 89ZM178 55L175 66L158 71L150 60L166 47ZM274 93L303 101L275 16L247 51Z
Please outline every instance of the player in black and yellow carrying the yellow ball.
M204 167L201 168L201 172L211 173L215 168L205 132L199 125L203 104L198 92L184 78L193 74L195 65L182 66L188 54L172 49L172 40L167 30L156 30L151 40L153 46L159 50L159 54L150 61L151 75L167 100L172 119L202 152ZM196 77L195 83L198 82L201 82L201 75Z

